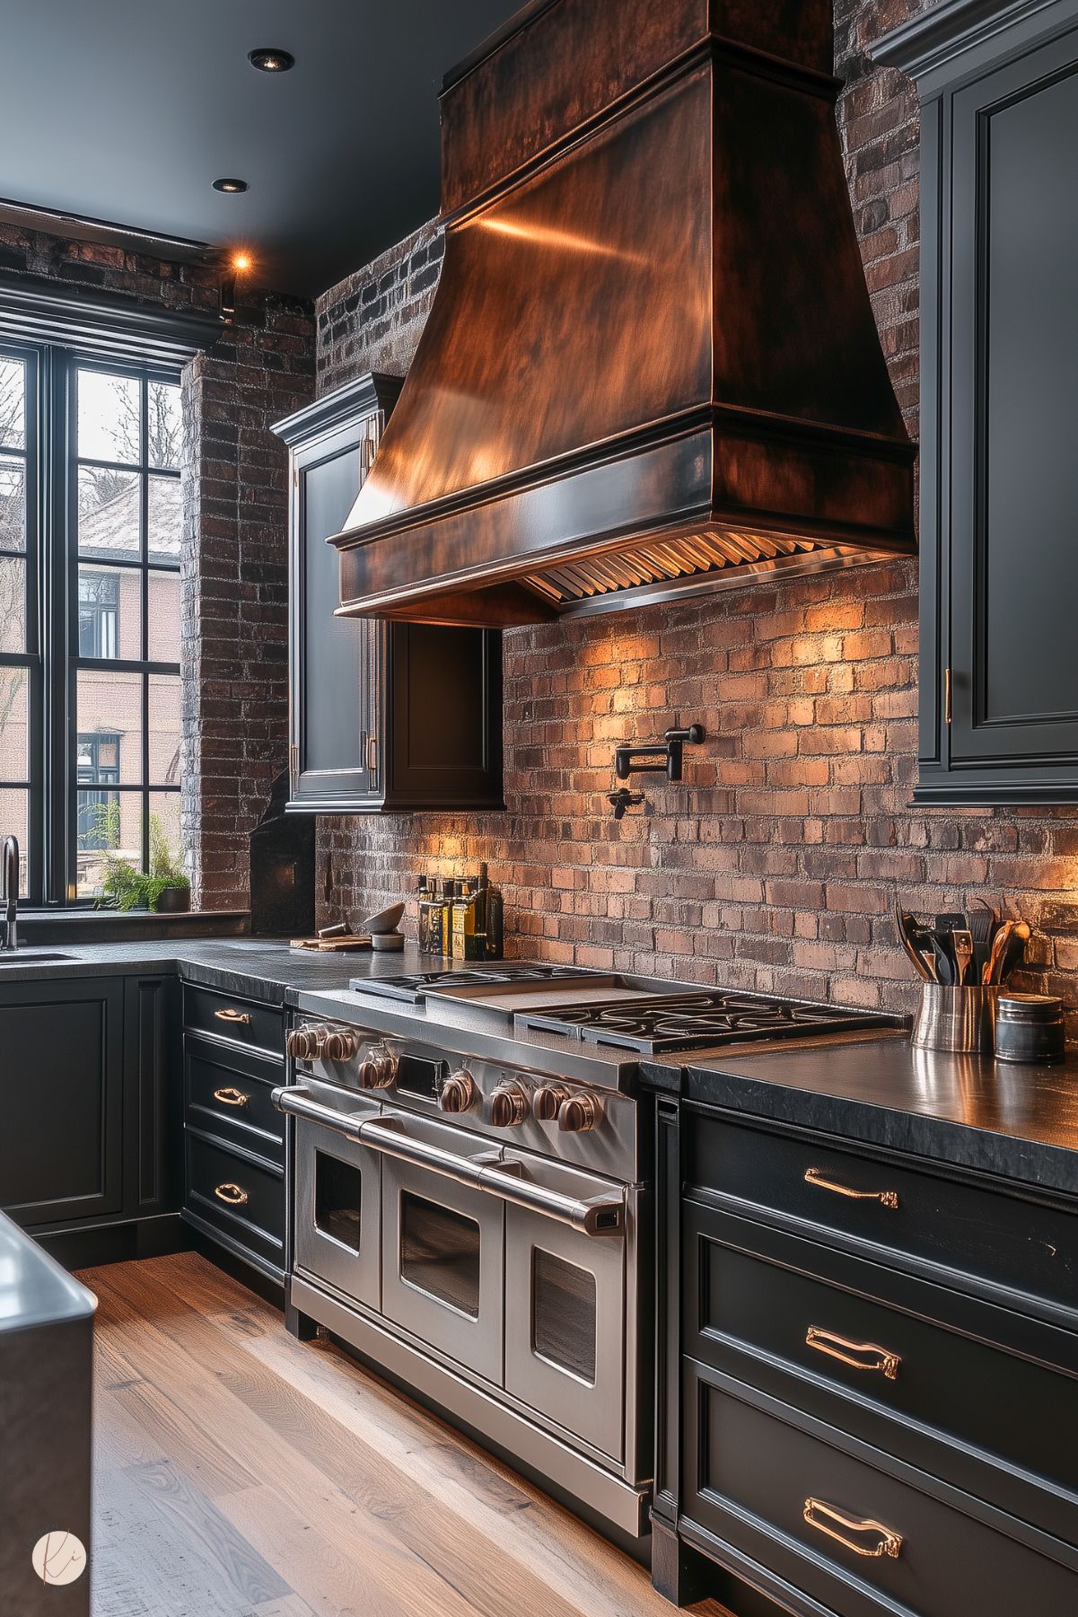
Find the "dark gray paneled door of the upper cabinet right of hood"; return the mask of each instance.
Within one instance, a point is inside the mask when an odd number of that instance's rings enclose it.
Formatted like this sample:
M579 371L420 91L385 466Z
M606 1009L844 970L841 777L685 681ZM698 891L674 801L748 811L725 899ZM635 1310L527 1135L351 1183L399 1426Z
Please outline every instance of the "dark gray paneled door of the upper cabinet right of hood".
M1078 36L954 99L952 354L952 770L1073 800Z

